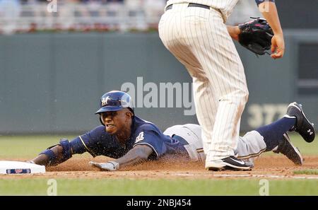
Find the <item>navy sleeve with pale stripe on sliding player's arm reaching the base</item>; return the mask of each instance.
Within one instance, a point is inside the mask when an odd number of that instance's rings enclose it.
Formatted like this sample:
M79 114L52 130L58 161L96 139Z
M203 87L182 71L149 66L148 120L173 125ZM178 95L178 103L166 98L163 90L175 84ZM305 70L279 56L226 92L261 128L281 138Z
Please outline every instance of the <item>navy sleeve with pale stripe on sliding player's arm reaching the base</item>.
M86 134L77 136L70 142L72 153L81 154L87 151L93 157L99 156L100 153L98 152L98 142L104 135L105 127L101 125L99 127L95 127L95 129L87 132Z

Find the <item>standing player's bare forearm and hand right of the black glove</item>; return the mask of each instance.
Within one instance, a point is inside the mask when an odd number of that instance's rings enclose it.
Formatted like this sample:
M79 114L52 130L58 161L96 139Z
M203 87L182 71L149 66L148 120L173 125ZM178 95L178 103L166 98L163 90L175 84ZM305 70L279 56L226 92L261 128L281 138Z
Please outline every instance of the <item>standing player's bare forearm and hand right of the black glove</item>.
M279 59L284 55L285 41L276 4L271 1L264 1L263 3L259 4L259 11L261 11L274 33L273 38L271 39L271 57L273 59Z

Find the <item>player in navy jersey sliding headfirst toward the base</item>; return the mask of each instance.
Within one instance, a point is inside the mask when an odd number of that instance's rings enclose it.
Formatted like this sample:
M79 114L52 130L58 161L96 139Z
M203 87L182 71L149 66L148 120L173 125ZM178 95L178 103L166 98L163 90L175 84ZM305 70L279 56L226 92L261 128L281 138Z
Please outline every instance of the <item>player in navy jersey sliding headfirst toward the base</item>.
M110 91L102 95L100 109L102 125L90 132L76 137L72 141L62 139L59 144L42 151L31 163L39 165L57 165L68 160L76 153L88 152L92 156L107 156L114 161L107 163L90 162L101 170L118 170L126 165L141 163L172 154L173 157L186 156L193 161L204 161L205 154L201 140L201 127L197 124L184 124L169 127L161 132L155 124L143 120L134 114L129 94L122 91ZM251 158L264 151L283 153L296 165L302 165L302 156L290 142L286 132L295 130L305 141L314 140L314 129L297 103L288 106L287 114L282 119L265 127L248 132L238 139L235 156L249 159L247 168L254 163ZM219 170L242 170L237 163L243 161L228 158L226 165ZM242 163L243 164L243 163Z

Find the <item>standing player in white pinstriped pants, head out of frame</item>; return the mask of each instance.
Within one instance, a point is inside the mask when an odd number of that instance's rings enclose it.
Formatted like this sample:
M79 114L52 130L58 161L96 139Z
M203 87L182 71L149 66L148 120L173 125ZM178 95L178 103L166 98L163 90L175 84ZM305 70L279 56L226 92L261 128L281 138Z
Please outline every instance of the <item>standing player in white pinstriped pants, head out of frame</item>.
M192 76L196 116L201 125L206 169L219 170L235 160L240 119L249 92L245 72L231 37L239 27L225 22L238 0L169 0L160 19L159 35L167 49ZM273 30L271 57L283 57L285 44L274 0L256 0Z

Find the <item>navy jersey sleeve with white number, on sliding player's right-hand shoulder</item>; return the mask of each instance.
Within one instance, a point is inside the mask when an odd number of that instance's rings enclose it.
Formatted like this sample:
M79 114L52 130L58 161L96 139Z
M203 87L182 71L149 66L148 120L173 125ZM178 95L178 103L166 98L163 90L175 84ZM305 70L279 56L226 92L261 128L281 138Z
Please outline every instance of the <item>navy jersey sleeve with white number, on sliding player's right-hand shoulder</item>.
M136 131L134 146L147 145L153 150L149 158L158 158L167 151L163 137L163 134L151 125L143 125Z

